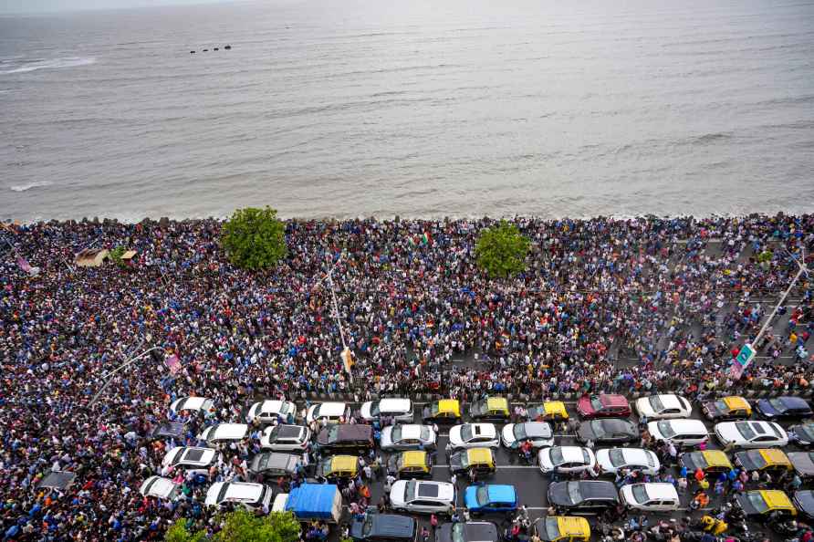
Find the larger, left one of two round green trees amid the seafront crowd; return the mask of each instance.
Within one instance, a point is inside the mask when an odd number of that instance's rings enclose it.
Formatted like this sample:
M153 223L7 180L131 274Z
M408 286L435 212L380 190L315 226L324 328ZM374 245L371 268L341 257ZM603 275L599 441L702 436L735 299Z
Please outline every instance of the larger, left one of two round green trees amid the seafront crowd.
M275 266L288 254L286 226L268 206L236 210L224 224L221 243L229 260L245 269Z

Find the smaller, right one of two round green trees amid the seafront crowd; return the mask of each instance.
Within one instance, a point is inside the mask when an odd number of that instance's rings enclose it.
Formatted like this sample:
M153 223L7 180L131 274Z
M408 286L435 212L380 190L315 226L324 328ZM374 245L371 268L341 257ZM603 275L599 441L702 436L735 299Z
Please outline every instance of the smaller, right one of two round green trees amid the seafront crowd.
M486 228L477 238L477 265L492 278L506 278L526 269L530 242L520 234L515 224L501 220Z

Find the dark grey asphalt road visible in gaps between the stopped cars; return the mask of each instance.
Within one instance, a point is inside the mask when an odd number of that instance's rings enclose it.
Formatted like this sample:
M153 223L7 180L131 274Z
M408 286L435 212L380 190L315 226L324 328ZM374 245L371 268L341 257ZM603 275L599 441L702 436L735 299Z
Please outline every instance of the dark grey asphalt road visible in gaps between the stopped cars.
M576 412L576 402L577 401L564 401L566 403L566 407L569 412L569 416L574 419L579 420L579 415ZM757 399L751 401L753 404L757 402ZM424 403L415 403L415 420L421 420L421 410ZM515 403L512 403L510 407L513 407ZM360 403L352 403L351 409L356 410L359 408ZM464 415L464 422L469 421L468 416L466 413L468 412L468 403L464 403L462 406L462 414ZM632 405L631 405L632 406ZM704 418L704 415L700 412L700 408L698 404L693 404L693 414L692 418L702 420L707 427L707 430L710 433L710 441L707 443L707 450L720 450L722 449L721 446L715 440L715 434L713 433L713 426L715 425L712 422L709 422ZM753 420L758 419L756 413L753 412ZM635 413L631 414L630 420L633 423L638 423L638 417ZM784 427L788 427L789 425L793 425L798 422L780 422L780 425ZM445 447L446 444L449 443L449 427L450 426L440 426L439 427L439 435L437 441L437 450L434 456L435 464L433 466L433 480L437 481L450 481L450 471L449 466L446 458ZM496 423L498 434L500 434L500 428L502 424ZM575 438L575 434L573 432L569 432L568 430L562 431L555 427L555 444L557 445L580 445L579 442ZM639 443L631 443L631 447L638 447ZM612 447L612 446L595 446L594 449L600 449L603 447ZM784 448L784 451L793 452L800 450L793 444L788 444L787 447ZM734 459L734 453L737 450L729 453L730 459ZM386 464L387 459L390 457L388 453L381 453L381 457ZM546 510L548 509L548 484L551 482L548 475L543 474L540 472L537 462L536 462L536 455L535 461L533 464L526 464L523 460L518 458L517 452L510 451L506 449L506 447L502 446L496 449L496 464L497 464L497 472L492 474L491 476L479 478L478 482L485 482L486 484L508 484L514 485L517 491L517 496L520 505L527 506L529 516L532 520L536 519L537 517L546 516ZM673 474L677 477L678 468L677 465L668 465L673 467ZM609 479L612 481L612 477L605 476L602 479ZM713 481L714 482L714 481ZM463 506L463 495L464 489L467 485L469 485L468 479L464 474L459 474L457 479L457 502L456 506ZM696 486L697 487L697 486ZM747 489L752 488L750 485L747 485ZM809 485L804 484L803 488L809 488ZM381 497L383 492L383 474L378 480L373 481L370 483L370 491L371 491L371 499L370 499L370 506L375 506ZM707 491L707 494L711 498L710 506L708 508L704 508L701 511L695 511L691 513L689 510L689 502L691 500L692 494L694 493L694 485L690 484L690 488L681 495L682 499L682 508L673 513L648 513L646 516L650 518L650 525L654 525L657 521L661 519L669 519L669 518L676 518L680 520L684 516L692 516L694 518L699 518L700 516L704 515L705 511L711 510L717 506L720 506L726 497L724 495L724 499L719 499L715 497L715 493L712 490L712 487ZM789 495L790 496L790 495ZM348 503L346 503L347 505ZM632 514L632 512L631 512ZM574 514L579 516L586 517L591 525L591 535L592 539L599 540L600 539L600 529L598 517L590 515L590 514ZM418 521L420 526L428 526L429 528L429 516L423 515L414 515ZM493 521L498 525L499 532L503 532L502 526L509 525L506 520L506 516L504 514L497 514L494 516L486 515L483 518L477 518L478 520L485 520L485 521ZM346 521L350 521L350 515L345 517ZM443 521L442 521L443 522ZM623 522L619 522L615 525L621 525ZM750 524L750 527L757 532L764 532L767 534L768 537L772 538L773 540L783 540L784 537L780 537L774 533L772 533L766 526L761 526L759 524ZM420 527L419 527L420 528ZM333 531L338 531L338 529L334 529ZM331 532L331 536L329 540L339 540L339 536L337 532ZM430 537L433 540L433 537Z

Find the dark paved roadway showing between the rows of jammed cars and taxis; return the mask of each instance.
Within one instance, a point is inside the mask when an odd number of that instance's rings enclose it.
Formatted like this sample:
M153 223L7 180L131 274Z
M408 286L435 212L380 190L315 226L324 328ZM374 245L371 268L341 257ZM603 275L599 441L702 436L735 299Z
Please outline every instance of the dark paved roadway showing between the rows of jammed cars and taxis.
M567 406L567 408L569 410L569 415L571 417L576 418L577 417L577 413L576 413L576 410L575 410L576 401L565 401L565 402L566 402L566 406ZM420 411L421 411L422 404L423 403L417 403L416 404L416 420L419 420L421 418L421 412ZM468 405L464 404L464 412L466 411L467 407L468 407ZM358 408L358 404L353 404L352 408ZM694 405L694 410L693 410L693 416L692 417L695 418L695 419L703 420L705 425L707 426L708 431L712 435L712 433L713 433L713 425L714 424L710 423L710 422L707 422L704 419L703 415L699 411L698 405ZM631 422L634 422L634 423L638 422L638 419L637 419L635 414L632 414L630 419L631 419ZM465 420L466 420L466 416L464 414L464 421ZM788 423L788 422L781 423L781 425L784 425L784 426L788 426L790 424L791 423ZM445 481L445 482L449 481L449 470L448 470L448 467L446 466L446 457L445 457L445 453L444 453L444 448L445 448L446 444L449 442L448 431L449 431L448 427L441 427L441 429L440 429L440 435L439 435L439 440L438 440L438 452L436 453L436 460L435 460L437 464L433 467L433 480L439 480L439 481ZM499 426L498 426L498 432L499 432ZM561 432L556 431L555 432L555 437L556 437L556 443L558 443L558 444L564 444L564 445L576 444L576 445L579 445L572 433L561 433ZM633 445L638 445L638 444L633 444ZM597 448L600 448L600 446L598 446ZM715 442L715 437L714 436L712 437L707 449L720 449L718 444ZM796 451L798 449L793 445L789 445L786 450L787 451ZM383 459L386 460L387 457L389 457L388 454L386 454L386 453L382 454ZM730 458L731 457L732 457L732 454L730 454ZM539 469L537 468L536 464L527 465L527 464L523 464L521 462L518 462L517 454L516 453L509 453L509 451L506 450L506 448L504 448L504 447L501 447L500 449L498 449L496 451L496 459L497 459L497 472L496 472L496 474L494 474L491 477L486 478L485 480L482 480L482 481L485 481L487 483L514 485L516 487L516 490L517 490L517 495L519 496L520 504L526 505L528 507L530 516L532 516L532 518L545 516L546 515L546 509L548 508L548 500L547 500L547 496L546 496L548 494L548 484L549 484L548 476L542 474L539 471ZM674 470L674 474L677 475L677 469L673 469L673 470ZM458 476L458 483L457 483L458 495L459 495L458 496L458 503L457 503L458 506L463 505L463 502L462 502L463 496L462 495L463 495L464 488L466 487L466 485L468 485L468 482L465 480L465 476ZM808 486L804 485L804 487L808 487ZM373 484L371 484L371 494L372 495L371 495L371 501L370 502L373 505L375 505L379 501L379 498L381 497L382 491L383 491L383 487L382 487L382 481L381 480L376 481ZM689 505L691 491L684 494L684 495L681 495L682 496L682 504L683 504L683 509L682 510L680 510L678 512L675 512L675 513L671 513L671 514L657 514L657 513L648 514L648 516L651 518L651 525L653 524L653 522L657 521L660 518L675 517L677 519L680 519L680 518L690 514L687 506ZM710 504L710 508L714 508L715 506L718 506L719 501L717 501L715 499L715 495L713 494L712 490L710 490L708 493L713 498L713 500L712 500L712 502ZM700 517L702 515L703 515L703 512L695 512L691 516ZM421 525L429 526L429 522L427 520L427 517L425 517L425 516L415 516L415 517L417 519L419 519ZM596 517L593 517L593 516L590 516L590 515L587 515L586 517L589 519L591 527L597 526L597 518ZM502 515L496 516L496 517L485 516L484 519L495 521L498 525L500 525L501 523L506 521L504 516L502 516ZM767 529L765 527L761 527L761 526L753 526L753 527L757 531L763 531L763 532L767 531ZM502 529L501 529L501 531L502 531ZM592 528L592 531L593 531L593 537L592 538L593 539L599 539L599 536L598 536L599 529L593 529ZM772 537L773 539L777 539L777 540L782 539L782 537L777 537L771 532L767 532L767 534L770 537ZM431 537L431 540L432 539L433 538ZM337 537L336 533L332 533L329 540L339 540L339 537Z

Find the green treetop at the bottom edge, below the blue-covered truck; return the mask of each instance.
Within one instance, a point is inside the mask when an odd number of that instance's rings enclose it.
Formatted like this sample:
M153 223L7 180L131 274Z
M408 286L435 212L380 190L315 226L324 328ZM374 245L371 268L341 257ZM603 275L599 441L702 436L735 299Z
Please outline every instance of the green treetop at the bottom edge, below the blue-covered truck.
M299 522L290 512L272 512L255 516L238 508L224 517L224 528L218 531L216 542L297 542Z

